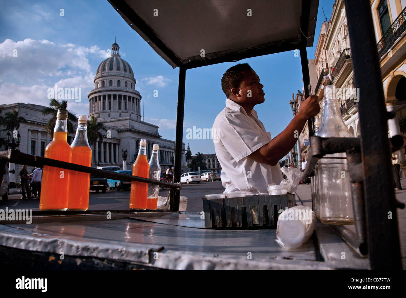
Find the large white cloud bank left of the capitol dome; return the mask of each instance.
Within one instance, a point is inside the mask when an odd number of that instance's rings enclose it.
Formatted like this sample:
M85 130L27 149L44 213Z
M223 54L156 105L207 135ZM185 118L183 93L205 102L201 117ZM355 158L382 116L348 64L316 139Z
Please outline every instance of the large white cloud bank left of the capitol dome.
M17 57L13 56L14 49ZM80 88L81 101L67 99L68 109L88 114L87 94L94 88L94 73L88 60L91 55L106 58L107 52L97 45L88 48L72 43L57 45L48 40L6 39L0 43L0 104L22 102L48 106L48 88L56 85Z

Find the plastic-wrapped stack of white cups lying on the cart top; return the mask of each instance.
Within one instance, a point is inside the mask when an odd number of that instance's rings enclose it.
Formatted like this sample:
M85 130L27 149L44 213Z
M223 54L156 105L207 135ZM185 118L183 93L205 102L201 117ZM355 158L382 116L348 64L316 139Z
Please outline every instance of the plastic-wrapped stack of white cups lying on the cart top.
M316 214L310 207L294 206L278 217L276 242L286 249L296 249L309 240L316 224Z

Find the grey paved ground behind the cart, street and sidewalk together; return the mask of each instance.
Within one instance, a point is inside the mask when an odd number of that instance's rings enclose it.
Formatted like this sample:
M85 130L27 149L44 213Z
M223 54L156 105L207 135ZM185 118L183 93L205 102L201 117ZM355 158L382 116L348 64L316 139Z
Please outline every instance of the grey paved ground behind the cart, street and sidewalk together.
M402 179L402 187L404 190L395 191L398 201L406 204L406 178ZM202 198L204 195L213 193L222 193L224 187L222 187L220 181L205 182L202 181L199 184L183 184L181 189L181 195L188 197L187 211L202 211L203 204ZM161 190L160 195L168 195L168 190ZM106 193L90 192L89 210L125 210L128 209L130 197L130 190L127 191L107 191ZM0 201L0 209L4 209L6 206L9 208L28 208L33 211L39 211L39 199L22 200L21 194L13 194L9 196L8 201ZM300 184L296 190L296 204L301 204L311 207L311 195L310 185ZM398 209L397 213L399 227L400 227L400 244L403 259L403 269L406 269L406 210ZM348 226L354 230L354 226Z

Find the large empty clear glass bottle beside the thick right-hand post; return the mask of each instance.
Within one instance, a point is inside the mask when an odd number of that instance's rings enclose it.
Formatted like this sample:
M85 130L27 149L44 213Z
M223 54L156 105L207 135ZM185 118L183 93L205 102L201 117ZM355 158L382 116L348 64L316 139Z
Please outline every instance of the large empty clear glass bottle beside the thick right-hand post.
M324 88L324 115L319 137L353 137L341 118L339 101L334 99L335 86ZM326 154L318 162L319 215L322 223L354 224L350 175L346 153ZM336 158L335 158L336 157Z

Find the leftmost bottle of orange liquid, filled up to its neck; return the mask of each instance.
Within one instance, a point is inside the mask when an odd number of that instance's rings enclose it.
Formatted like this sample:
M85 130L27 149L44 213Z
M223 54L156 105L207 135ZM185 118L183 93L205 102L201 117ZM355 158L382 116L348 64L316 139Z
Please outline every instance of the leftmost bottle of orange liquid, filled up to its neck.
M54 128L54 139L45 148L45 157L71 162L72 148L67 143L66 109L58 109ZM70 171L44 165L42 173L40 210L64 211L68 208Z

